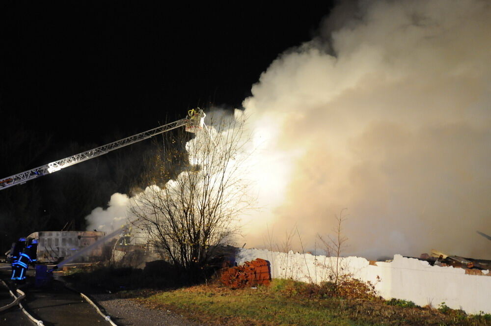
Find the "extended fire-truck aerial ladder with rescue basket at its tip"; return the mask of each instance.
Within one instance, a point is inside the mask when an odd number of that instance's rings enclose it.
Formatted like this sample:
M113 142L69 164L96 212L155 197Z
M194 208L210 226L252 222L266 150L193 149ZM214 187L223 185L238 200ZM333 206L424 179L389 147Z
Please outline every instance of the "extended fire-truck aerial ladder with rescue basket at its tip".
M45 165L35 167L33 169L11 175L9 177L0 179L0 190L7 189L15 185L25 184L27 181L41 177L43 175L51 174L53 172L59 171L62 168L81 163L93 159L95 157L104 155L113 151L115 149L134 144L138 141L148 139L150 137L165 133L169 130L173 130L182 126L186 126L186 131L190 133L196 133L203 129L204 118L206 114L202 109L191 109L188 112L188 116L184 119L177 120L166 125L147 130L143 133L139 133L133 136L129 136L109 144L96 147L94 149L72 155L65 159L61 159L55 162L51 162ZM206 128L206 126L205 126Z

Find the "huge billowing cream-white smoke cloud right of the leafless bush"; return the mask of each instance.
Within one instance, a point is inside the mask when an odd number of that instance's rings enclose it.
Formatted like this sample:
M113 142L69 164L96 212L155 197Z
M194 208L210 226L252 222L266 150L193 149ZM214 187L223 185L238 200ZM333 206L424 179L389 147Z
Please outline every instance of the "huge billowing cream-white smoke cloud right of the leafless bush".
M348 208L346 254L490 259L476 233L491 233L489 2L352 1L332 15L244 101L262 208L242 217L244 242L297 225L311 249Z

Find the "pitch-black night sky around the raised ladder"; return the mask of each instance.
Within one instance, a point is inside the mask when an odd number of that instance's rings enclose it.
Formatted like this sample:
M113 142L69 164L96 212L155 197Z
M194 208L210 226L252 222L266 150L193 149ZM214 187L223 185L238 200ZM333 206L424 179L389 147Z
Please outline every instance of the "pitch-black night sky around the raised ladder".
M197 106L240 107L278 54L310 40L331 7L330 1L276 8L2 1L0 177L181 119ZM16 133L27 140L17 145ZM41 153L31 154L33 147ZM112 184L104 179L114 174L114 161L139 155L136 145L130 147L118 150L119 157L111 153L30 181L41 196L29 195L29 201L41 201L32 214L57 211L53 214L63 223L75 214L63 207L84 200L83 208L73 208L81 218L113 192L127 191L111 186L117 176L111 176ZM87 176L104 188L97 200L68 193L70 180L83 183ZM12 210L26 186L15 186L14 199L0 194L11 205L10 216L20 214Z

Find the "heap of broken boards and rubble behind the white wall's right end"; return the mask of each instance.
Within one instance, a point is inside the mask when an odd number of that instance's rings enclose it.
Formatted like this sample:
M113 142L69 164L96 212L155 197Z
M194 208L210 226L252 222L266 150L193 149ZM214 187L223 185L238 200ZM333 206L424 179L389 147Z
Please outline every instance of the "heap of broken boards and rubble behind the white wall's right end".
M491 270L491 260L465 258L460 256L447 255L441 251L432 249L431 254L424 253L419 260L424 260L432 266L452 266L465 269L466 274L471 275L490 275L481 271Z

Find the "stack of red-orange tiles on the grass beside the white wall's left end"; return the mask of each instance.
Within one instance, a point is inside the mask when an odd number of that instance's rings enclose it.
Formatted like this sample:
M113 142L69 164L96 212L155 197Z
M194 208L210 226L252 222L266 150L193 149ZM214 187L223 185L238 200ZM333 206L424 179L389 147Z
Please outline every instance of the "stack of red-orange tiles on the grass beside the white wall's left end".
M224 269L220 282L232 289L246 286L269 285L271 280L270 262L261 258L245 262L244 265Z

